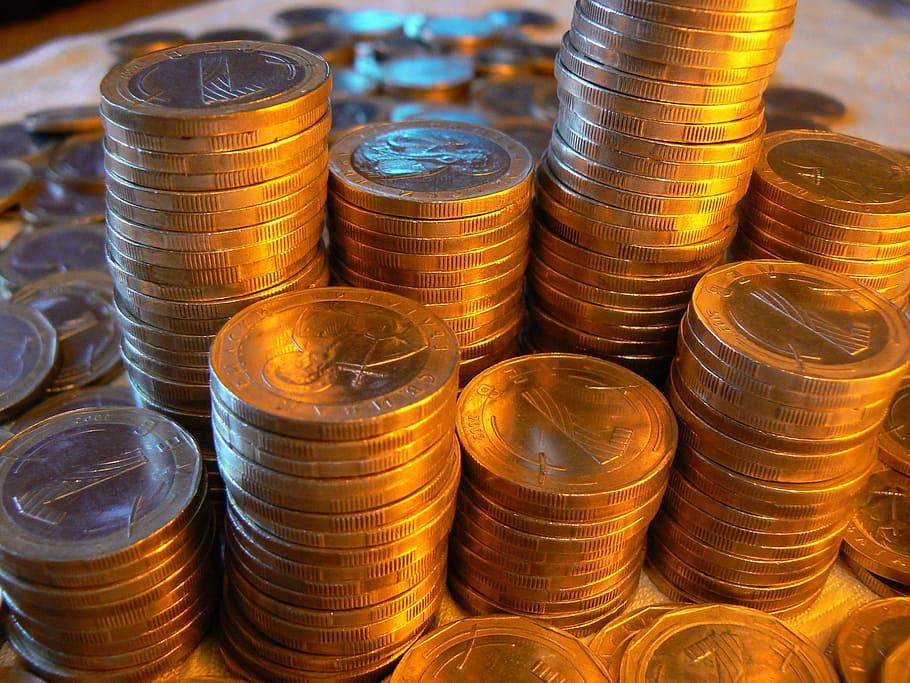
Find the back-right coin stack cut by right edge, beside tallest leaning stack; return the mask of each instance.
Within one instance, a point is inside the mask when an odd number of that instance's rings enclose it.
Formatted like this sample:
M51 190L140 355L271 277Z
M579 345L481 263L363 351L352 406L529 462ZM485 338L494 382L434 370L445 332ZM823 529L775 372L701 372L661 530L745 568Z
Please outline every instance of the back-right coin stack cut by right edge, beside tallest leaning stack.
M766 136L734 253L848 275L900 306L910 292L910 161L840 133Z

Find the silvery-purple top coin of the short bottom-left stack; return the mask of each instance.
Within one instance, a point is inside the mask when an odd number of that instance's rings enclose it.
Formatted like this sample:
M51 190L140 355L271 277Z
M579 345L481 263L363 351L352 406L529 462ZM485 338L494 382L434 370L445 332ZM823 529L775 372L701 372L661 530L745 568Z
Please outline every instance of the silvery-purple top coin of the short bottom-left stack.
M3 554L94 558L174 518L201 476L191 437L142 408L85 408L19 432L0 464Z

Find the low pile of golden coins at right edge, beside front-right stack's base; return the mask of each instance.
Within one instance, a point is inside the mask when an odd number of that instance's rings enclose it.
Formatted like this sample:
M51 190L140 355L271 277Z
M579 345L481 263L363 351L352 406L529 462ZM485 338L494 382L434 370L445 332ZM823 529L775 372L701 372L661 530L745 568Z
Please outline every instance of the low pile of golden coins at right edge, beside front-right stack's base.
M844 532L843 557L856 577L884 597L910 595L910 476L883 468L873 472Z

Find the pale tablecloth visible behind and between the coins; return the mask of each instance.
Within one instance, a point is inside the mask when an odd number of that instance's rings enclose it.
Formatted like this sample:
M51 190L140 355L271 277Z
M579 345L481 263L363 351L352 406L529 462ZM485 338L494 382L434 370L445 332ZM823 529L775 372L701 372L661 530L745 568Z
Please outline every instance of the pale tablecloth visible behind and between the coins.
M290 0L216 0L145 17L115 29L82 33L50 40L35 49L0 62L0 123L16 121L40 108L94 103L98 83L111 66L107 40L117 34L182 28L201 32L245 25L268 29L276 36L281 27L273 21L279 10L300 6ZM320 5L341 3L320 2ZM441 0L351 0L347 9L383 7L402 12L443 13ZM573 3L563 0L462 0L458 12L479 14L493 7L522 7L555 13L562 26L552 36L562 35L572 16ZM793 35L778 62L773 83L809 87L841 99L848 116L835 129L899 150L910 150L910 5L867 0L799 0ZM552 39L552 40L549 40ZM856 606L873 599L840 563L819 600L802 614L786 621L824 648L845 616ZM643 576L642 585L629 609L666 602ZM441 619L459 616L450 600ZM0 665L15 662L8 645L0 651ZM207 639L181 666L177 675L223 673L217 645ZM173 674L172 674L173 676Z

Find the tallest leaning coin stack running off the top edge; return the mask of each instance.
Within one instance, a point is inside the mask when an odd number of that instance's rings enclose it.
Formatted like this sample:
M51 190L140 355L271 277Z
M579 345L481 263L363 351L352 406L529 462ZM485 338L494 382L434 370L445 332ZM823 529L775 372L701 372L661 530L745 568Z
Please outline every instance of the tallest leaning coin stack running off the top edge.
M719 263L764 132L795 0L578 0L537 171L532 350L662 381L695 282Z

